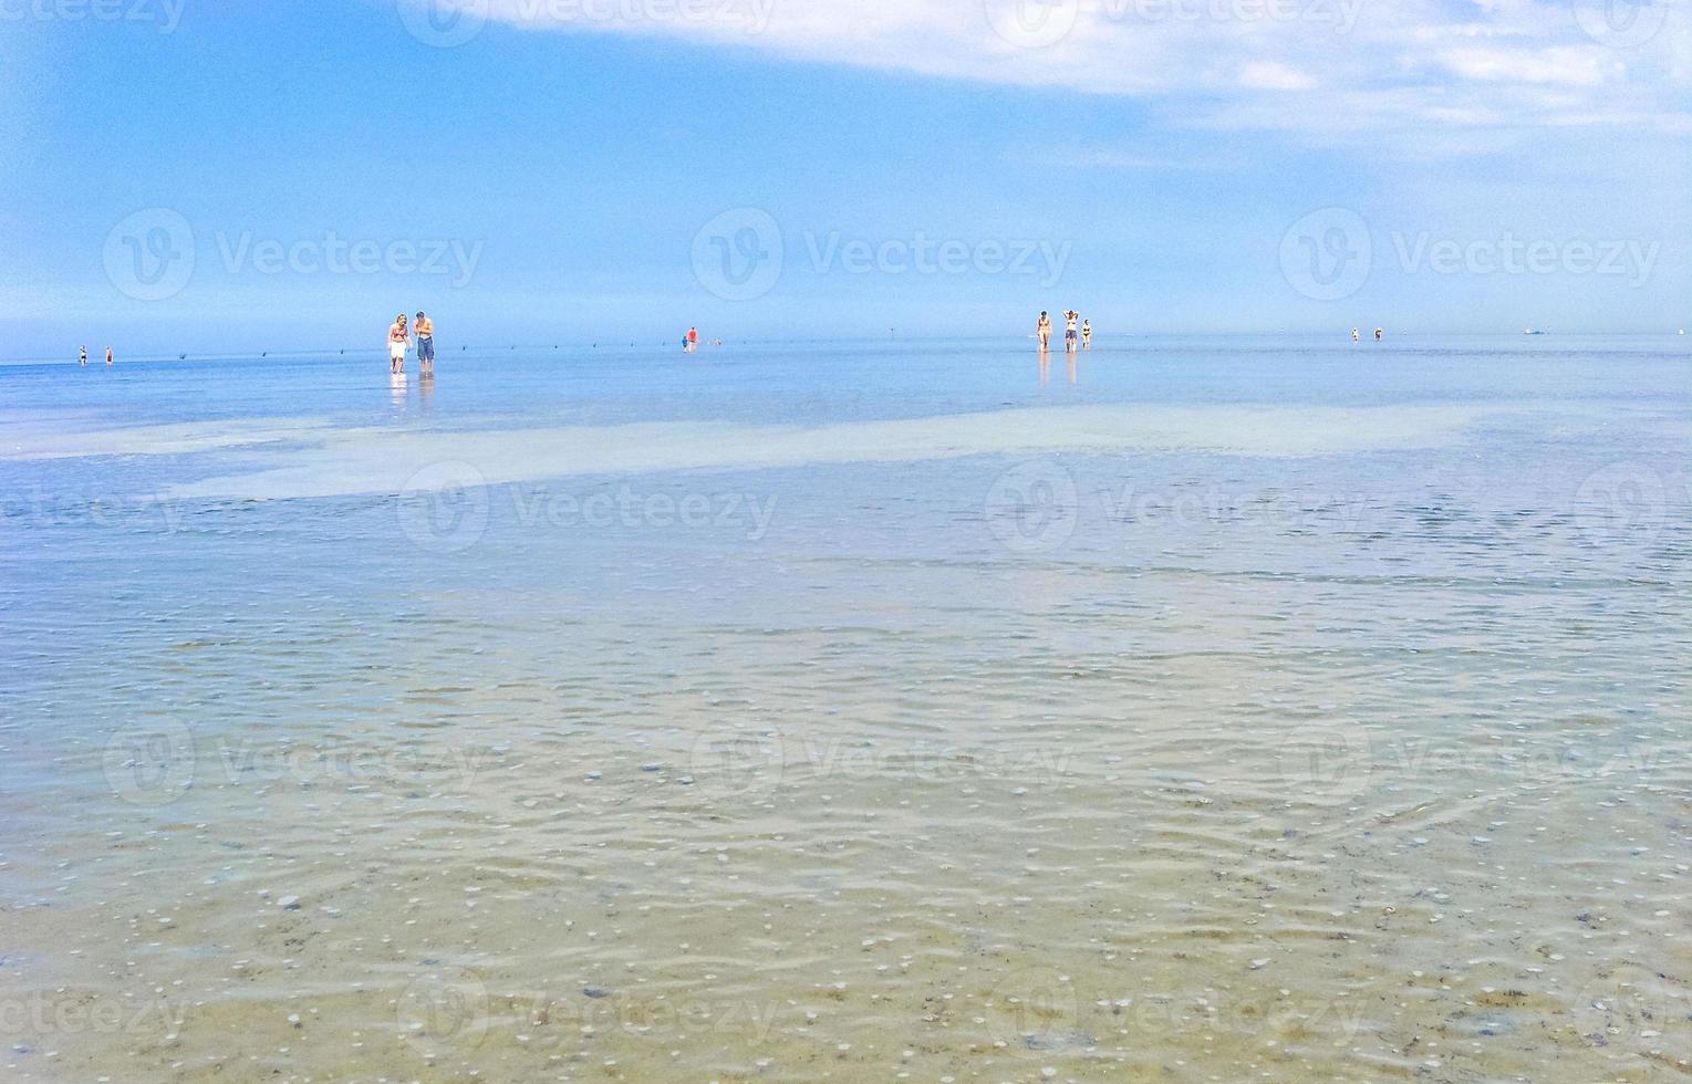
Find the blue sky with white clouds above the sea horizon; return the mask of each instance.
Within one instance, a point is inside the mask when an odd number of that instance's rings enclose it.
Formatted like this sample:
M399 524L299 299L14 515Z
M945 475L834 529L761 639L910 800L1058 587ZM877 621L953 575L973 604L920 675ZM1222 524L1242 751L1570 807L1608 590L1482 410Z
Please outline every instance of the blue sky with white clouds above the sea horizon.
M0 359L1658 333L1687 0L0 0Z

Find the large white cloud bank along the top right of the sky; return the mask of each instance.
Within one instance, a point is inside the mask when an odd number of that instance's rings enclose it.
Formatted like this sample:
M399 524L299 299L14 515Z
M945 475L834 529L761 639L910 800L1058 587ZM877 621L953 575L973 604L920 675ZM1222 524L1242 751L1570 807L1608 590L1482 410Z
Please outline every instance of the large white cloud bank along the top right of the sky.
M531 30L1130 96L1179 123L1313 140L1440 127L1678 132L1692 112L1685 0L396 2Z

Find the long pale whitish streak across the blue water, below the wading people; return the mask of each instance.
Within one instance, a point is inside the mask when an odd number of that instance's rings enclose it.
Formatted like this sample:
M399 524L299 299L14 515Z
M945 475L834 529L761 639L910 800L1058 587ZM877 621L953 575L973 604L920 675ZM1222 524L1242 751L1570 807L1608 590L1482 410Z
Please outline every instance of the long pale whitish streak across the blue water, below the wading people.
M335 428L330 419L240 419L10 436L8 458L264 452L264 465L169 485L164 497L288 499L398 494L420 467L472 465L487 482L675 470L919 462L1037 452L1343 455L1448 445L1486 416L1533 404L1394 408L1223 406L1005 409L832 426L640 423L570 428ZM486 426L486 423L484 423ZM288 443L286 448L264 445Z

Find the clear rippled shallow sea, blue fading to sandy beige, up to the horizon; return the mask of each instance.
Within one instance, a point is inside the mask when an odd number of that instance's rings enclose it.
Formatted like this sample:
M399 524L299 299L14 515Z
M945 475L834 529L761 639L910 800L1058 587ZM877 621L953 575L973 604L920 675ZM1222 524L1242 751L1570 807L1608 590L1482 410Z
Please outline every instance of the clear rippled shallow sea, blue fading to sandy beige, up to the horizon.
M1682 338L0 367L22 1081L1684 1079Z

